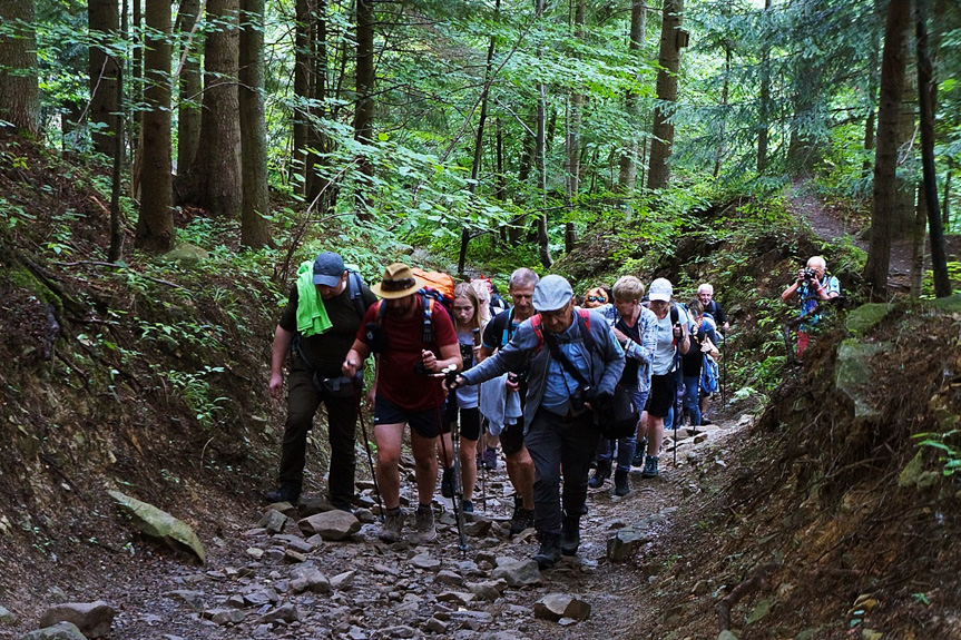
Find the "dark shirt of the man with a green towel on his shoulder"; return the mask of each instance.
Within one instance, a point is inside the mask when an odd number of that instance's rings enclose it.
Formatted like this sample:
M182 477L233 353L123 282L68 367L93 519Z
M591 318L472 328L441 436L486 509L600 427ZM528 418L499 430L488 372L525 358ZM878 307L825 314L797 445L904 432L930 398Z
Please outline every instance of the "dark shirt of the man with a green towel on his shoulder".
M361 317L357 315L357 307L354 301L351 299L351 287L354 285L354 276L347 278L347 286L343 293L331 299L324 301L324 308L327 311L327 316L331 318L333 326L330 331L321 335L312 335L303 337L297 333L297 286L291 289L291 296L287 299L287 306L284 307L284 313L281 315L281 328L294 334L294 345L300 342L300 351L294 348L293 365L301 365L301 356L307 360L307 365L315 370L321 377L336 377L341 375L341 365L344 363L344 357L354 344L354 337L357 335L357 328L361 326ZM367 285L362 285L364 311L372 304L377 302L377 296L367 288Z

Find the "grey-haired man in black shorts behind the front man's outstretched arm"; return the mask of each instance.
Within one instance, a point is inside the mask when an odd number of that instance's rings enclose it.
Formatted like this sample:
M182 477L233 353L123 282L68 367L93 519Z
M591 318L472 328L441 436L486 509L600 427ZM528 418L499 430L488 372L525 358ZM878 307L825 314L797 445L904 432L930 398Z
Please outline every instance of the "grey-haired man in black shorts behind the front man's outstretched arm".
M504 312L499 313L484 327L483 339L481 343L481 356L483 362L486 358L493 355L500 348L503 348L513 337L517 327L526 319L533 316L533 289L540 280L539 276L527 267L516 269L508 283L508 296L513 302L513 306ZM518 372L520 373L520 372ZM490 383L488 383L490 384ZM507 402L517 398L521 410L523 408L524 397L527 395L527 381L523 376L508 375L503 382L503 398L498 395L496 401L499 406L506 406ZM484 390L481 391L482 397ZM503 403L503 404L500 404ZM483 413L483 412L482 412ZM488 415L494 412L489 411ZM510 479L514 490L513 498L513 514L510 520L510 533L517 535L524 529L533 526L533 461L530 459L527 447L523 443L523 414L517 417L511 424L502 424L499 434L501 446L506 459L507 475ZM498 436L489 436L497 444ZM494 455L489 455L491 452ZM484 451L489 457L497 460L497 449L488 446ZM488 469L494 469L496 463L488 464Z

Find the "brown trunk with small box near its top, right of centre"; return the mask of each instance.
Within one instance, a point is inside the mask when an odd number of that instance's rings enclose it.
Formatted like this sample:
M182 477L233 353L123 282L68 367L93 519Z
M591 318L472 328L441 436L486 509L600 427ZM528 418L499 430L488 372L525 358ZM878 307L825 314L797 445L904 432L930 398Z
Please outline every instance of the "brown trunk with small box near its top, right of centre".
M664 22L660 28L660 55L657 72L657 99L663 102L677 101L677 72L680 69L681 13L684 0L664 0ZM670 177L674 125L668 120L671 109L664 105L654 108L654 140L650 146L650 168L647 187L659 189L667 186Z

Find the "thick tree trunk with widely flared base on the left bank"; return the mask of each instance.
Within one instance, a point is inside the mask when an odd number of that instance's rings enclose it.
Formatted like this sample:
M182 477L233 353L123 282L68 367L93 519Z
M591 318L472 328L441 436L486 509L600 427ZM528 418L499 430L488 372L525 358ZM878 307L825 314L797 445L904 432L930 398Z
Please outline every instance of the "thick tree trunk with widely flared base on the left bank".
M237 91L239 0L208 0L204 43L204 111L200 142L190 170L177 179L185 203L214 216L241 210L241 122Z

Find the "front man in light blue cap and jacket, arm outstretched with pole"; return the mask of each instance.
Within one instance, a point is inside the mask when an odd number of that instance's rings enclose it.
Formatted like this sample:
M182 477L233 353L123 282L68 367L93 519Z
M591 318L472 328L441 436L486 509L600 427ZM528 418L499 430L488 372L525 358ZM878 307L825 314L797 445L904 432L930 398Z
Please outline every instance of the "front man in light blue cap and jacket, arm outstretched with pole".
M611 405L624 351L602 315L575 309L573 291L561 276L546 276L537 284L533 307L538 314L517 328L507 346L458 375L451 386L527 371L524 443L536 469L535 529L540 539L535 560L546 569L562 554L576 555L580 545L587 474L600 437L591 410Z

